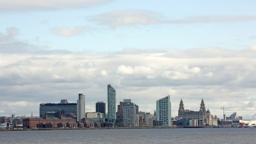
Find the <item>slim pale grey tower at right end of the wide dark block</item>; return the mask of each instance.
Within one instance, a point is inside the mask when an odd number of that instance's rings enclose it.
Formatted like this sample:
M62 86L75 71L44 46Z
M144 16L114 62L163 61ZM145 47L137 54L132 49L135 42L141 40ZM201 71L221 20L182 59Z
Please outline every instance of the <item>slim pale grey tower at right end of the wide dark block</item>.
M77 121L85 118L85 97L83 94L78 94L77 100Z

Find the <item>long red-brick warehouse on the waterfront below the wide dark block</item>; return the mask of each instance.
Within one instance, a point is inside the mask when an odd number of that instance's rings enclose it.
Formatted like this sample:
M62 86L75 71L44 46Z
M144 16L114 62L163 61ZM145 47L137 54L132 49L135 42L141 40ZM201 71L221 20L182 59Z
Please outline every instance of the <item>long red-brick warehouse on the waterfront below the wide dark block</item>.
M58 123L68 123L68 122L76 122L76 119L73 119L71 117L62 117L61 119L56 118L56 117L47 117L45 116L44 118L26 118L23 120L23 128L36 128L37 124L43 123L52 123L52 127L57 127Z

